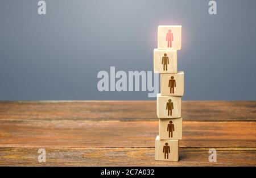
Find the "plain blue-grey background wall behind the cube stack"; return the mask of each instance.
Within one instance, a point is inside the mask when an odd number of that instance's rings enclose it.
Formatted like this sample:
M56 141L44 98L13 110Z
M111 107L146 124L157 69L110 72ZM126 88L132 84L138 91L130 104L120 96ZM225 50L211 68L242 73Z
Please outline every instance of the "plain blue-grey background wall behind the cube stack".
M184 100L256 99L256 1L0 1L0 100L155 100L98 92L97 73L152 71L159 24L183 26Z

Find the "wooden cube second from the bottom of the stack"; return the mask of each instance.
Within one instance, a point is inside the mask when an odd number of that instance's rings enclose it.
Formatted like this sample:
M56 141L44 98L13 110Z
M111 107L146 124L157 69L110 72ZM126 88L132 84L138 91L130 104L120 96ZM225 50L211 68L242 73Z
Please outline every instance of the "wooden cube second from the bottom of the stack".
M160 140L182 139L182 118L159 119Z

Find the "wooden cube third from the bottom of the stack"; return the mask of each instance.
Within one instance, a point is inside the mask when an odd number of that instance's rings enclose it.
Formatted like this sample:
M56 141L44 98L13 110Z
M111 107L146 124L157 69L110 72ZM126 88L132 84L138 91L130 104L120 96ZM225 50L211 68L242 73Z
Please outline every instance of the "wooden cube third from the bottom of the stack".
M159 119L181 118L181 97L157 95L156 112Z

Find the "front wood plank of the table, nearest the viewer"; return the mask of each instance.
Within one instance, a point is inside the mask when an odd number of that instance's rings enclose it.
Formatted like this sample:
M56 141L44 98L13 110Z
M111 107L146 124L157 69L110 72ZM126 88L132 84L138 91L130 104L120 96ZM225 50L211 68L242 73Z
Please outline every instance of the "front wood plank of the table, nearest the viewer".
M0 165L12 166L255 166L255 149L217 149L209 163L208 148L181 148L179 162L155 161L154 148L47 148L46 163L38 163L39 148L0 148Z

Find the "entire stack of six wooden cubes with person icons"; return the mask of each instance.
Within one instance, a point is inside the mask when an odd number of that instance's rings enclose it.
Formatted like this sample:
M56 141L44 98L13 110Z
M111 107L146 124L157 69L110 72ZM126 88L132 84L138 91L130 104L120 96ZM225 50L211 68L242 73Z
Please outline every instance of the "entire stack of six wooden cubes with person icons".
M155 140L155 160L179 160L182 139L181 96L184 72L177 72L177 50L181 49L181 26L158 27L158 49L154 49L154 72L160 73L157 96L159 135Z

